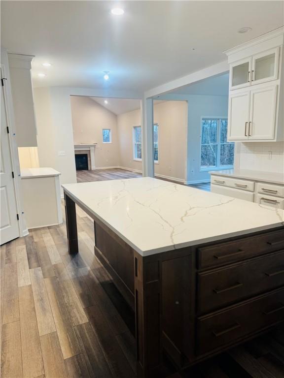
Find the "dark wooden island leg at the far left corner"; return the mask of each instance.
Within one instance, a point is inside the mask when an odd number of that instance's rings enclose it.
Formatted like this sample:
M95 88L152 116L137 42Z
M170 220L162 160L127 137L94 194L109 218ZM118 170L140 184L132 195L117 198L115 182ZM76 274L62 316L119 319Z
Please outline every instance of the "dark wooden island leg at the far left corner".
M68 251L70 254L78 253L78 234L76 222L76 207L75 202L64 193L65 200L65 215L66 215L66 228Z

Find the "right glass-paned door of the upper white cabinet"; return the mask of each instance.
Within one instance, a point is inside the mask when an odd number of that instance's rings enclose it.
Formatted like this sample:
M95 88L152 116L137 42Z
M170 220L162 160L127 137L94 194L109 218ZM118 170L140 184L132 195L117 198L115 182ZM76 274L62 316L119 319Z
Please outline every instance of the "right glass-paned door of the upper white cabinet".
M279 47L252 57L251 84L278 79Z

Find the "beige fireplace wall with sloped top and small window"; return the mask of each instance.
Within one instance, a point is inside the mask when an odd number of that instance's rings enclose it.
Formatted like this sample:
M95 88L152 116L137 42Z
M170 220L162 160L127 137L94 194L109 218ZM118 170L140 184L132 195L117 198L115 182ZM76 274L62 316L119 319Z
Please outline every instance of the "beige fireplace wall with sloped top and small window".
M90 97L71 96L74 143L98 143L96 168L120 165L116 115ZM103 143L103 128L111 129L111 143Z

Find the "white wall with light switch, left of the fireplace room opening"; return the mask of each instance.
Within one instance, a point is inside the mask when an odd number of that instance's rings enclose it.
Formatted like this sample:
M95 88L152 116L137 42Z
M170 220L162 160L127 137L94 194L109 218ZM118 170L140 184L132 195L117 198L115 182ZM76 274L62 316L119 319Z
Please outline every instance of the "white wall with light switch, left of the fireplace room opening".
M68 87L34 89L39 164L61 172L61 184L76 182L71 95L141 98L141 94L129 91ZM59 153L64 155L59 156Z

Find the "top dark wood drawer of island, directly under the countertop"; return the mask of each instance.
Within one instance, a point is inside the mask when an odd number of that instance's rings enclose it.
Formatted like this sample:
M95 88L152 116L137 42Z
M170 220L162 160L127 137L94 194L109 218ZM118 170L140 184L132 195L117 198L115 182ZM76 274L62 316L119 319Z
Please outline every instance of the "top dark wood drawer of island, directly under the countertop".
M198 267L217 267L284 249L284 228L231 242L198 248Z

